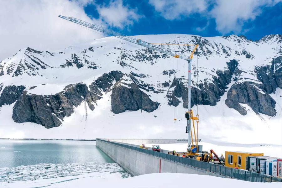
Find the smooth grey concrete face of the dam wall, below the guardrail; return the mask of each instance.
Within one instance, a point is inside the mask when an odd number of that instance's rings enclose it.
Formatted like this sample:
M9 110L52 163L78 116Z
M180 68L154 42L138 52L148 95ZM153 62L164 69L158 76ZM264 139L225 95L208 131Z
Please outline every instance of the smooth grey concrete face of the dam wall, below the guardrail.
M227 177L210 171L192 167L190 165L185 165L183 163L178 163L158 156L129 149L122 146L122 145L126 146L126 144L124 143L120 143L120 145L117 144L118 142L114 142L112 140L111 141L107 141L103 139L96 140L96 145L99 149L101 149L104 153L106 153L110 158L112 158L116 163L122 166L126 171L128 171L133 176L150 174L150 173L170 172L170 173L213 175L213 176L219 176L225 178ZM132 146L132 145L133 144L128 144L127 146Z

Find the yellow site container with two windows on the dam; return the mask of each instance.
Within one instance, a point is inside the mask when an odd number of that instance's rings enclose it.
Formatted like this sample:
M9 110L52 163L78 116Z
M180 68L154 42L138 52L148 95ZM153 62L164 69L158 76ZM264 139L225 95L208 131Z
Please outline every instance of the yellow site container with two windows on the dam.
M226 151L225 152L225 166L246 170L247 165L248 165L246 158L248 158L248 156L263 156L263 155L264 155L263 153L249 153L249 152L243 152L243 151Z

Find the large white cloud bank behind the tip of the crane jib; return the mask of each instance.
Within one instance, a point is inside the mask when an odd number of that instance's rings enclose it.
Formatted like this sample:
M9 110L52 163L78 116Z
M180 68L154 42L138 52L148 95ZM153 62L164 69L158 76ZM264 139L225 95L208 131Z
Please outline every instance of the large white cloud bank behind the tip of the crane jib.
M0 1L0 61L26 47L52 51L101 38L58 17L62 14L97 23L84 13L86 4L86 0Z

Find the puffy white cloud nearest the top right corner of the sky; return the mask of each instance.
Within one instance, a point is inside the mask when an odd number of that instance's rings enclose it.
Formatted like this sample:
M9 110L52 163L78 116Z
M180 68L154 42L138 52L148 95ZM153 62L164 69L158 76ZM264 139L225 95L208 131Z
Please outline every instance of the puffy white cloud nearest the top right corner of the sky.
M217 0L211 15L215 18L219 32L227 34L233 31L239 34L244 23L253 21L262 13L263 7L274 6L279 2L280 0Z

